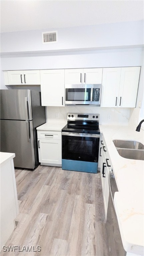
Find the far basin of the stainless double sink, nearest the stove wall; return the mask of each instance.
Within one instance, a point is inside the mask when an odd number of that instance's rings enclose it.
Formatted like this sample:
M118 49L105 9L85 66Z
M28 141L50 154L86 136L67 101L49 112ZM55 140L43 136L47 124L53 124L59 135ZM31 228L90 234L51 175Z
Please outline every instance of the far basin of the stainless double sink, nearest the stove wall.
M144 149L144 145L138 141L113 140L113 143L114 143L115 147L117 147L117 148ZM126 157L126 158L128 158L128 157Z

